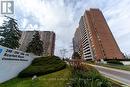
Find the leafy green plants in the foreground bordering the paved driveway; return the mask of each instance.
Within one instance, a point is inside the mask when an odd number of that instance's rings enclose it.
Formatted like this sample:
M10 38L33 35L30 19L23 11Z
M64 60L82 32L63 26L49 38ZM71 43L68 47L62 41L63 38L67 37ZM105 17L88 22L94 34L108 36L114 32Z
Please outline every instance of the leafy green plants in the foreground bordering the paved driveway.
M72 87L111 87L111 83L92 66L84 70L72 70Z

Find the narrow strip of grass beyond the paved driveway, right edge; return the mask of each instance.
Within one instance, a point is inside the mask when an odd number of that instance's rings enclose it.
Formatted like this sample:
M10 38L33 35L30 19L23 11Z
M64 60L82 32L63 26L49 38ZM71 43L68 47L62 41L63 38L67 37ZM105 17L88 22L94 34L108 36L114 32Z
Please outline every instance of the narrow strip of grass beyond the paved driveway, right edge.
M130 65L116 65L116 64L98 64L98 65L101 65L104 67L110 67L110 68L130 71Z

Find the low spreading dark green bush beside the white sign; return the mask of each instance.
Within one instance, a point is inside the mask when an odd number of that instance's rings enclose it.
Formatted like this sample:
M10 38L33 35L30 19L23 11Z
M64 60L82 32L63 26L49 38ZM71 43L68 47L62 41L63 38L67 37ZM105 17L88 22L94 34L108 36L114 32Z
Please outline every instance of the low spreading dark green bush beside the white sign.
M56 56L36 58L29 67L18 75L18 77L40 76L59 71L65 67L66 63Z

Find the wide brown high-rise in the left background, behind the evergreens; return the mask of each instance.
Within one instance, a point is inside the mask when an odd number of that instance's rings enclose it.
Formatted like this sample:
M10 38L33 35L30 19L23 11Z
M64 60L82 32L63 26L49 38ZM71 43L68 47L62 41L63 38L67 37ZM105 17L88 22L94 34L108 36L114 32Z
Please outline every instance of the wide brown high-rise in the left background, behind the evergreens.
M23 31L20 39L19 50L26 51L29 42L32 40L34 31ZM51 31L39 31L40 39L43 41L43 55L54 55L55 50L55 33Z

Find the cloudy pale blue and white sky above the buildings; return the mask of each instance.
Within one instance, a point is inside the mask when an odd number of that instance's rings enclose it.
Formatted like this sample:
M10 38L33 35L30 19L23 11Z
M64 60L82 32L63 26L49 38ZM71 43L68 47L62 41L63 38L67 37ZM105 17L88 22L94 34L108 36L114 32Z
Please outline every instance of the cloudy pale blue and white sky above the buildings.
M1 1L1 0L0 0ZM85 10L99 8L118 46L130 55L130 0L13 0L14 14L20 30L54 31L55 55L67 49L72 54L72 38ZM0 14L0 25L3 15Z

